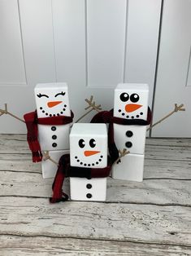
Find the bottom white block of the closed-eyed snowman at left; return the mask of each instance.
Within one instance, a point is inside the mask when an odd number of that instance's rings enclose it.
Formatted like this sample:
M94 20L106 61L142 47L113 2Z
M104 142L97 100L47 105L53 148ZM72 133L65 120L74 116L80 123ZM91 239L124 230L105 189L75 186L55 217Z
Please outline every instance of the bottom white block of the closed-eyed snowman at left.
M63 156L63 154L67 154L68 150L60 150L60 151L50 151L49 155L54 160L59 162L59 158ZM58 166L56 166L52 161L46 160L41 162L41 171L43 179L54 178L57 172Z

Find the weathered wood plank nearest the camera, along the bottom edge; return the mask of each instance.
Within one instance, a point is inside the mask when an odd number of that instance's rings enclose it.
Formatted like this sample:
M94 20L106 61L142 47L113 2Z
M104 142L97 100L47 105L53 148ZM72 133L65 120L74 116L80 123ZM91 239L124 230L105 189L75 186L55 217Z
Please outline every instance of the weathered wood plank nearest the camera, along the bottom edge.
M99 241L89 239L46 236L0 236L0 254L13 255L190 255L191 249L180 245L154 245L127 241Z

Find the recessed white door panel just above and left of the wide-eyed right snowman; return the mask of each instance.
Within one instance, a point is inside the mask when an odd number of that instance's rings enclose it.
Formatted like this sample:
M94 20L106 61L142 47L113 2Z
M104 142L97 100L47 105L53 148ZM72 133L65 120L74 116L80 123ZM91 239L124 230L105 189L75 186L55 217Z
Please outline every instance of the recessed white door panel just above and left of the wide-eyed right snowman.
M87 1L87 86L123 82L126 0Z

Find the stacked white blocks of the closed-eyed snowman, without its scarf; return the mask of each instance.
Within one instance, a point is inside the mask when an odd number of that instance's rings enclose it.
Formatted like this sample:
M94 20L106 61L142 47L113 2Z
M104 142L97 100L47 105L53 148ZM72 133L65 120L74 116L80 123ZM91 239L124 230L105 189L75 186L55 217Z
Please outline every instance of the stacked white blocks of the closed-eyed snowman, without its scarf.
M67 83L41 83L34 89L37 117L71 116ZM59 161L69 149L69 133L72 124L59 126L38 125L38 139L42 151L49 151L50 157ZM42 161L42 177L53 178L57 166L51 161Z

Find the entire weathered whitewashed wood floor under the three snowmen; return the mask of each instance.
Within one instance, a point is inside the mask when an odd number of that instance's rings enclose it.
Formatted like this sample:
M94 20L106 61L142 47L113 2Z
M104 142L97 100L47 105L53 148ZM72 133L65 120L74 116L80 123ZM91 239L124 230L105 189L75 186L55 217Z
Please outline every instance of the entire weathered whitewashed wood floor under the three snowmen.
M0 135L0 255L191 255L191 139L147 139L143 183L50 205L25 135ZM65 190L68 190L68 181Z

